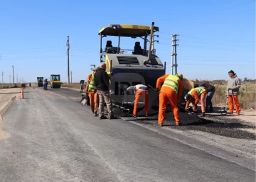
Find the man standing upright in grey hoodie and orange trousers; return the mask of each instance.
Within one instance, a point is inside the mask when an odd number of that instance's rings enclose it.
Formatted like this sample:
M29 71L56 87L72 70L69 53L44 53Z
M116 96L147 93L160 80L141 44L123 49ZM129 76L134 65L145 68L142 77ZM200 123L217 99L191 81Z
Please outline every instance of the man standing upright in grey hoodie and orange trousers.
M230 76L230 79L228 79L228 85L227 85L227 92L228 92L228 114L233 114L234 111L234 102L235 102L235 115L240 115L240 104L238 102L238 95L239 95L239 89L241 87L241 81L238 78L238 76L233 72L233 70L230 70L228 72L228 76Z

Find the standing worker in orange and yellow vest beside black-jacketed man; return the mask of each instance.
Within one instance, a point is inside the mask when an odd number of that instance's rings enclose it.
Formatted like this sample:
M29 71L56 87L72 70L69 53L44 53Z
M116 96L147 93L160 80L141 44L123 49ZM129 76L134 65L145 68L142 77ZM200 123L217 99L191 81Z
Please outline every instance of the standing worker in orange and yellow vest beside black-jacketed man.
M90 107L92 109L92 113L97 116L97 108L98 108L98 94L95 86L95 73L97 72L97 67L93 69L92 74L89 74L87 77L87 84L85 86L85 93L90 98Z

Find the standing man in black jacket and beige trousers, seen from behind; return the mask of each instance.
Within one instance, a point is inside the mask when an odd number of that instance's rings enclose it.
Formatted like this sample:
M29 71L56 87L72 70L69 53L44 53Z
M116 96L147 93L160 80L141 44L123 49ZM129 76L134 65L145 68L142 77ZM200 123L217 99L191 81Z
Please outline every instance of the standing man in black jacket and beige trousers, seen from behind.
M112 111L112 99L110 96L110 80L108 78L107 72L106 72L106 64L102 63L100 64L100 67L97 69L97 72L94 75L95 79L95 86L97 89L97 93L100 98L99 103L99 115L100 119L106 119L106 116L104 115L104 105L106 103L109 119L116 118Z

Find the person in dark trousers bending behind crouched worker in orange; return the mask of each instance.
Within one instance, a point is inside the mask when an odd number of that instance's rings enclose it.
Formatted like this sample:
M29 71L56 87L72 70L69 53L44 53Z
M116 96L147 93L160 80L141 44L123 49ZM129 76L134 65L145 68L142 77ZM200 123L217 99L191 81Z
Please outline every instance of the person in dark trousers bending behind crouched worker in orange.
M195 84L195 88L198 86L203 86L204 88L206 88L207 91L207 97L206 97L206 113L207 112L213 112L213 103L212 103L212 98L213 95L215 93L215 86L207 84L207 83L203 83L203 84ZM210 107L210 108L209 108Z

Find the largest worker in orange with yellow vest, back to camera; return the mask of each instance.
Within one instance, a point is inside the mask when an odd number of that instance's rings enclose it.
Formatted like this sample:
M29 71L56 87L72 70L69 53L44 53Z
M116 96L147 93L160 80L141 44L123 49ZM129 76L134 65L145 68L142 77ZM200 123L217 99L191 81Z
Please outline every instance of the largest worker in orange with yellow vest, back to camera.
M156 81L156 90L160 90L159 92L159 117L158 117L158 124L159 126L163 126L164 123L164 115L166 112L166 105L167 101L169 101L171 105L171 110L174 113L174 120L176 125L180 125L181 121L179 118L178 113L178 100L182 96L182 84L183 75L182 74L166 74L164 76L161 76ZM161 86L161 83L163 83L163 86Z

